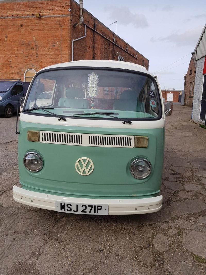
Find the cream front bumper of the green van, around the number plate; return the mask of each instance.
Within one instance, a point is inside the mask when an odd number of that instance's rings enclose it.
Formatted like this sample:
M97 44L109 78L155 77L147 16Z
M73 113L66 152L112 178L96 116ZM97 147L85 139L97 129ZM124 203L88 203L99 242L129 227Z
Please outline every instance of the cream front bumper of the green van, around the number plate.
M48 210L55 210L55 201L76 204L107 204L109 205L109 215L153 213L162 208L162 195L144 199L87 199L44 194L29 191L16 185L13 186L13 199L22 204Z

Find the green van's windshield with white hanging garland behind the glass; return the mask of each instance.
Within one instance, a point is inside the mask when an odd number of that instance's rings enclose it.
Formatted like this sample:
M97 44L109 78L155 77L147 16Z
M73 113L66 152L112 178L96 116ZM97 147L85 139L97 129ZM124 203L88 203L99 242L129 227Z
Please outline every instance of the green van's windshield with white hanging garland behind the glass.
M113 112L130 119L157 119L161 106L157 83L142 73L98 69L42 72L35 78L24 109L52 107L55 114L87 119L111 119L91 112ZM38 112L46 116L41 110ZM31 113L31 112L30 112ZM74 118L77 118L75 116Z

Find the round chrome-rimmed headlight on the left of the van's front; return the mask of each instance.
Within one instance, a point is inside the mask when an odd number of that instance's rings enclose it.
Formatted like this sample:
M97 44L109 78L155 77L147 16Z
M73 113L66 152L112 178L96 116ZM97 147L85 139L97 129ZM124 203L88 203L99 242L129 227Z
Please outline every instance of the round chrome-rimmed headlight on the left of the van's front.
M43 167L43 159L37 153L29 152L24 156L24 166L31 172L38 172Z

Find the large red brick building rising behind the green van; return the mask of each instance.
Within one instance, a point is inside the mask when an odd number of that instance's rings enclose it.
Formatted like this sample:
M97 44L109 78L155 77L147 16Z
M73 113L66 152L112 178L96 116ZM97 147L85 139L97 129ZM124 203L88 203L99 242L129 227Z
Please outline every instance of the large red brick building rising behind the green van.
M27 69L38 71L72 61L72 56L149 66L148 59L74 0L0 1L0 45L0 78L23 79Z

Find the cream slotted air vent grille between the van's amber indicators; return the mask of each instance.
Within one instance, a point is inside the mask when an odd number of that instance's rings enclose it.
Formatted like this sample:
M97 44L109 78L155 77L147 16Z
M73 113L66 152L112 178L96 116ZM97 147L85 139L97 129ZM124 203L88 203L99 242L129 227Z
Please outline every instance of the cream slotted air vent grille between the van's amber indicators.
M65 132L40 131L40 142L94 147L133 148L134 136L75 134Z

